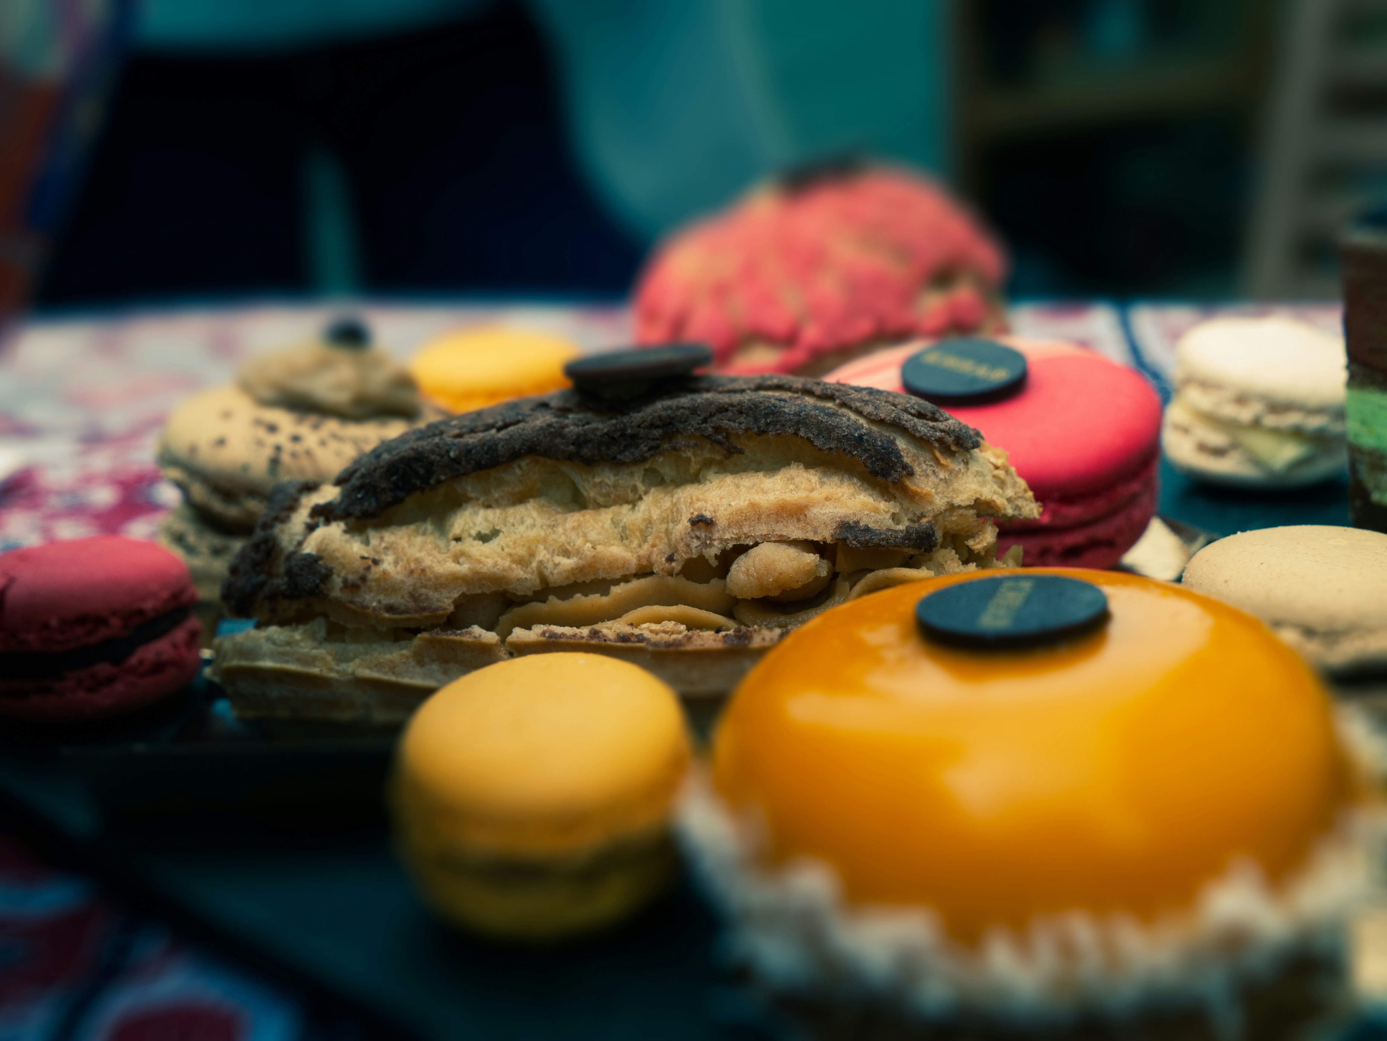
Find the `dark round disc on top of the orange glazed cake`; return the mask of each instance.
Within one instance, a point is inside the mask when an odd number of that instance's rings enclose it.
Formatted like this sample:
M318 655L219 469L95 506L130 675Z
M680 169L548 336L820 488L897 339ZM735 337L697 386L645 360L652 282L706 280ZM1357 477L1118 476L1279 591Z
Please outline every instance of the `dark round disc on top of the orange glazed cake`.
M1025 571L957 582L920 597L925 636L961 647L1006 649L1058 643L1096 629L1108 597L1078 578Z

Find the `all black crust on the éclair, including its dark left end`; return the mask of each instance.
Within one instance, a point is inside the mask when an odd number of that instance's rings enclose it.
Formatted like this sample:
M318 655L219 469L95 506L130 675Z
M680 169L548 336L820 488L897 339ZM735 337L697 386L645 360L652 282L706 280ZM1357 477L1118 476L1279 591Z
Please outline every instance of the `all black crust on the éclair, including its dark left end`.
M918 398L792 376L696 377L624 402L558 391L440 420L379 445L338 474L341 492L313 506L307 523L315 528L376 517L415 492L523 456L639 463L689 444L691 437L702 437L727 455L741 453L732 441L738 434L799 437L824 452L859 460L892 484L914 473L890 434L864 427L845 410L942 450L982 444L971 427ZM331 570L318 556L288 553L277 560L277 530L315 488L311 481L275 485L264 518L232 560L222 585L222 600L232 614L251 617L258 607L323 592ZM688 523L699 527L714 520L695 513ZM834 538L856 549L929 552L939 545L929 521L896 530L845 521Z

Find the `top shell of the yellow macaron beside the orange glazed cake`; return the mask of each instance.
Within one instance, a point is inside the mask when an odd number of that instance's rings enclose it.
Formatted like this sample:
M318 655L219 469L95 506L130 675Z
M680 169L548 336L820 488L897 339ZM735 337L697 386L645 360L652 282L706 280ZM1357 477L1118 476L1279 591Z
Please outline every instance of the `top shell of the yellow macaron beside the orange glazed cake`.
M645 670L534 654L424 701L395 793L427 846L567 857L663 826L689 755L677 696Z

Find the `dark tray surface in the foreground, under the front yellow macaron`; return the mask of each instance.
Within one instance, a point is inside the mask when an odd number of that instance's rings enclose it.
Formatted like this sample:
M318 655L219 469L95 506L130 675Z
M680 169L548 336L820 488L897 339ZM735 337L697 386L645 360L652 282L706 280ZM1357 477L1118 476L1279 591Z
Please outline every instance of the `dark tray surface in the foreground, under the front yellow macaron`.
M370 1037L791 1041L724 968L716 919L687 880L608 936L508 947L440 925L384 828L300 823L112 823L62 757L0 755L0 830L42 830L194 938L336 995Z

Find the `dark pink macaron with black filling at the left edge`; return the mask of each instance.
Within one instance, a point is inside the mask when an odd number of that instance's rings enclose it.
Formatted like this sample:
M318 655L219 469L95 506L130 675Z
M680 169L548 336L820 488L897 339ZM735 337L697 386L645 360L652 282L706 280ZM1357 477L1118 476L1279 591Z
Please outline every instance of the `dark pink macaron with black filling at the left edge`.
M0 556L0 714L121 715L178 693L201 665L197 589L153 542L98 535Z

